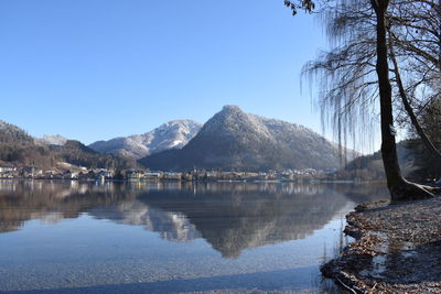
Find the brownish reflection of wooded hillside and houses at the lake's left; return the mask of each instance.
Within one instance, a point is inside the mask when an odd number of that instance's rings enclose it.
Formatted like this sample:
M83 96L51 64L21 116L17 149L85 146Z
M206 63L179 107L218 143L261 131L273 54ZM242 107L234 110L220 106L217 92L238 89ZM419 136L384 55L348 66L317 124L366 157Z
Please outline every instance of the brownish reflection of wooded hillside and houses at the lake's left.
M54 222L76 218L92 207L133 199L136 195L127 185L0 181L0 232L18 230L31 219Z

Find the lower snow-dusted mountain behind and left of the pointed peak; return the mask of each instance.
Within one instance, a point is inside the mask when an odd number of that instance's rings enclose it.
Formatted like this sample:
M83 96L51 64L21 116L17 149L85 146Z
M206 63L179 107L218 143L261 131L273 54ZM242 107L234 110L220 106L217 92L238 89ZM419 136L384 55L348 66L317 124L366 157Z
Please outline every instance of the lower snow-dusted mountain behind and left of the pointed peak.
M141 159L164 150L181 149L201 130L193 120L173 120L144 134L97 141L89 148L99 153L120 154Z

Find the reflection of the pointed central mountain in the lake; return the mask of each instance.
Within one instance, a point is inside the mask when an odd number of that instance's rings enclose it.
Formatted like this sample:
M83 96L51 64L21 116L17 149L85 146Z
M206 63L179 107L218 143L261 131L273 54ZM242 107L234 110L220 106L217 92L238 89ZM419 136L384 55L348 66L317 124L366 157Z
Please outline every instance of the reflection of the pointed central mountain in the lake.
M259 185L251 190L245 187L230 185L229 190L206 189L196 195L161 190L142 194L139 199L151 207L184 214L224 257L238 257L245 249L302 239L322 228L347 203L343 194L321 186L314 186L314 193L293 192L294 186L287 193L290 185L284 188L270 185L276 189L270 193L256 190ZM303 188L308 192L310 187Z

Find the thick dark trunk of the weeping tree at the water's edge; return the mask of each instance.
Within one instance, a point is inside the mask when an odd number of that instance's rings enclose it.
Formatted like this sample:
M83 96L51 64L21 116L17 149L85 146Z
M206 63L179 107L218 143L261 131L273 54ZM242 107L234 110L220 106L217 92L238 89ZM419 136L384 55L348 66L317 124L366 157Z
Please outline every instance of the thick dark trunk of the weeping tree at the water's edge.
M388 48L386 39L386 11L389 0L370 0L377 17L377 64L380 124L381 124L381 155L385 166L387 187L391 203L401 200L433 197L433 194L421 186L407 182L400 172L395 141L392 91L389 80Z

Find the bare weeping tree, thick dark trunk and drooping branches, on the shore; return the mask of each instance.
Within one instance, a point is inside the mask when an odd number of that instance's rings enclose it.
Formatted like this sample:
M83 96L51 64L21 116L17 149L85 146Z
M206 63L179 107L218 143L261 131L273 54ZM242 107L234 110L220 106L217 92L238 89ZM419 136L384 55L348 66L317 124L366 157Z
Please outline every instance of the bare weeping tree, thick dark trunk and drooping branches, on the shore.
M302 1L298 6L303 3ZM395 79L389 77L387 32L391 31L389 30L389 19L392 18L389 18L388 14L391 1L329 0L322 1L322 3L324 7L322 18L327 21L326 32L331 41L334 42L334 48L330 53L324 53L318 61L305 66L305 73L310 75L324 73L324 83L322 84L324 85L324 91L320 97L322 113L326 116L331 113L329 119L336 127L338 139L341 139L341 133L346 134L348 130L355 133L353 127L359 122L357 121L359 118L362 118L362 126L364 124L365 120L369 117L367 112L376 108L376 105L373 102L379 98L381 155L392 202L433 196L429 188L407 182L402 177L398 165L391 83L396 83L399 79L399 84L402 86L402 80L397 63L395 64L397 68L395 70ZM412 2L405 0L394 1L390 10L400 8L406 3ZM407 11L411 12L409 9ZM421 18L422 14L419 14L419 17ZM406 19L404 15L396 19L400 20L397 23L400 23L401 26L406 22L409 22L409 19ZM416 26L415 23L417 22L413 21L411 23ZM407 42L395 43L400 45L400 56L405 56L406 54L407 56L416 56L411 62L433 57L432 54L424 55L427 37L419 42L419 44L423 45L422 50L421 46L408 44L409 40L415 40L415 37L409 37L407 32L416 28L410 25L404 26L405 29L401 28L395 32L396 34L400 33L400 36L406 36L399 39L400 42L407 40ZM420 30L422 29L420 28ZM428 44L431 43L428 42ZM437 64L438 59L434 58L432 62ZM432 74L433 70L429 69L421 70L421 73ZM412 78L419 76L418 74L418 72L413 74ZM421 84L430 86L427 79L419 85ZM419 85L415 85L413 88L418 88ZM402 94L400 90L397 92L399 95ZM407 96L401 96L401 98L405 100ZM406 110L409 110L409 108Z

